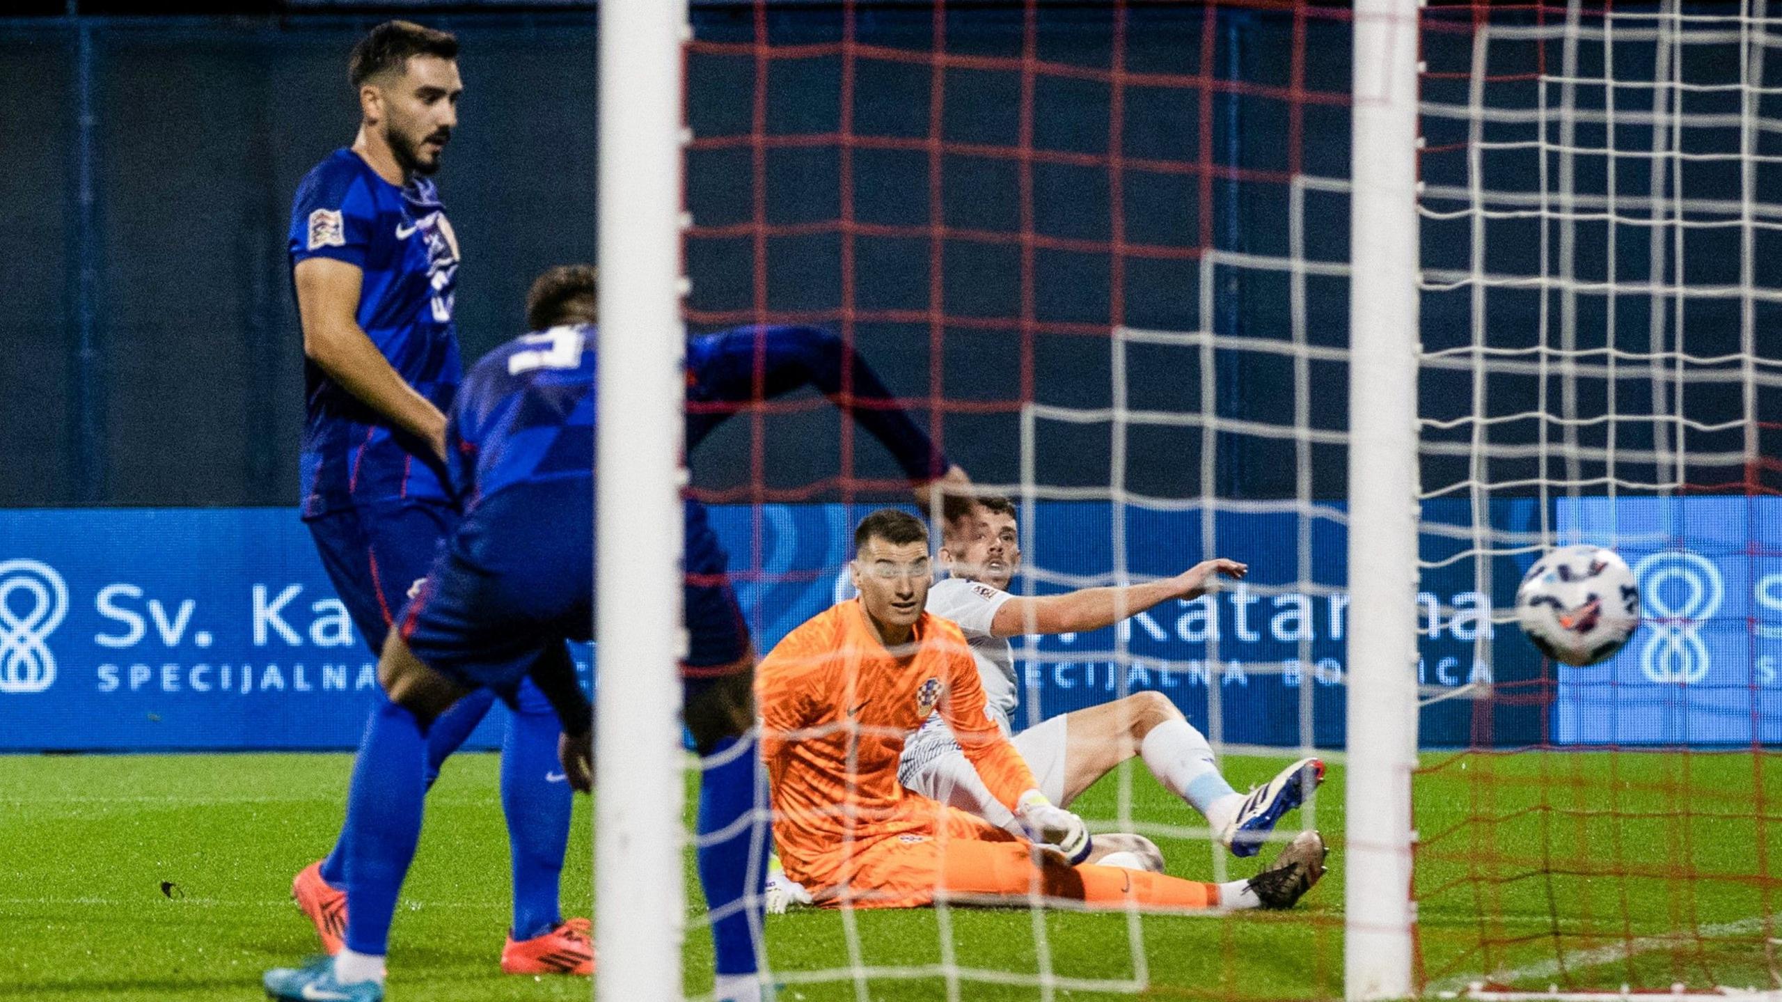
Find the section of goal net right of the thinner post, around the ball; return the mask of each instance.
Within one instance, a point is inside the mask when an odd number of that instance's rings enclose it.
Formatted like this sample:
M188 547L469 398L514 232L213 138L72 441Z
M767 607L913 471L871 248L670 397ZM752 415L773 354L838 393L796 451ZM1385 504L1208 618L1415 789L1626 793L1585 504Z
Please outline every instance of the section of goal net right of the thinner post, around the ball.
M1775 991L1777 23L1570 4L1422 27L1420 556L1500 628L1461 747L1426 719L1418 975ZM1647 617L1581 669L1509 615L1570 542L1616 549Z

